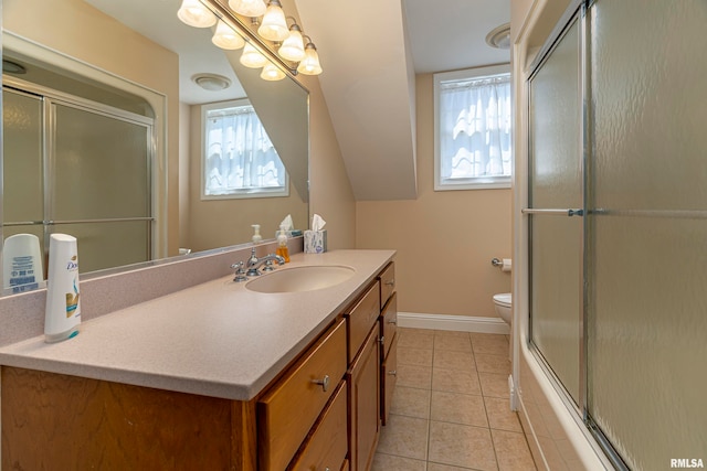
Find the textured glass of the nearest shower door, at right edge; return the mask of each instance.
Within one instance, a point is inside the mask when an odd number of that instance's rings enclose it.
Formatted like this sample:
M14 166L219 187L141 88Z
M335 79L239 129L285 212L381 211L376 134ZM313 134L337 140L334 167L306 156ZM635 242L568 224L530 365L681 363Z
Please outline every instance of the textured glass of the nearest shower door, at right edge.
M599 0L591 21L589 413L662 470L707 458L707 220L685 213L707 210L707 2Z

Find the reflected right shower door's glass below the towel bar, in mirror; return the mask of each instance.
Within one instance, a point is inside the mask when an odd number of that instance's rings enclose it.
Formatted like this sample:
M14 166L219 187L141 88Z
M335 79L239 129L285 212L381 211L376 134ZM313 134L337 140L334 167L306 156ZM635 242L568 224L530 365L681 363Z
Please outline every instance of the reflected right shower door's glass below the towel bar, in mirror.
M76 237L80 272L149 260L149 222L57 224L52 232Z

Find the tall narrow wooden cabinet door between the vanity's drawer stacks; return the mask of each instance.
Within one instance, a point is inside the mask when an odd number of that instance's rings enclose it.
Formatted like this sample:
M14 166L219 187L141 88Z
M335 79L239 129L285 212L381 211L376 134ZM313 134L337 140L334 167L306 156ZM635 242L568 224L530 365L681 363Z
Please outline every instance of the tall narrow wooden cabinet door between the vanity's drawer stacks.
M373 325L363 349L349 372L349 450L351 470L366 471L373 460L380 431L378 323Z

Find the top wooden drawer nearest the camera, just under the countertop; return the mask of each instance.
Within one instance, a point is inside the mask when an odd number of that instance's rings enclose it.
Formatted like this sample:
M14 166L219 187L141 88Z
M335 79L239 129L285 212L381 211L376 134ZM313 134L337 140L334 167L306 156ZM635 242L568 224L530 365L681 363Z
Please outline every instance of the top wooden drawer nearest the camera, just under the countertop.
M260 470L281 471L287 467L346 366L346 328L340 320L258 400Z

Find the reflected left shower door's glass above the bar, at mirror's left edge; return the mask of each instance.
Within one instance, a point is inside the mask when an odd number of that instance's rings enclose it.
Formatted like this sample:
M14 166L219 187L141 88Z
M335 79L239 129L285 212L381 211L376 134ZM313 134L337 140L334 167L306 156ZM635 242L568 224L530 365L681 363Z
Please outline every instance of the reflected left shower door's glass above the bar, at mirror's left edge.
M42 100L8 90L2 100L3 220L42 221Z

